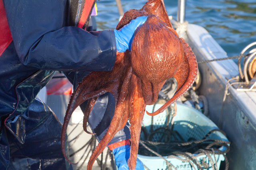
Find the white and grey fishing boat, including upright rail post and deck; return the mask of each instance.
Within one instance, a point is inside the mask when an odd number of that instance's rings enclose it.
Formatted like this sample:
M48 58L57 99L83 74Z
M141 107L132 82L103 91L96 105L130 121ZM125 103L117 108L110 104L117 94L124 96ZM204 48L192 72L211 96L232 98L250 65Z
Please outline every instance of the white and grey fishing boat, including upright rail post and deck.
M178 30L180 37L183 37L189 43L196 55L201 75L200 80L195 84L195 87L198 85L196 92L197 96L205 97L200 109L207 110L206 116L226 133L228 140L231 142L230 151L226 154L229 169L254 170L256 167L256 74L254 72L254 77L248 78L248 67L251 66L249 69L252 69L252 65L256 63L256 50L248 52L248 49L252 49L252 46L256 43L244 48L241 54L238 54L238 57L247 57L244 59L244 68L242 68L241 62L236 64L232 59L228 59L226 52L204 27L185 21L185 0L178 0L177 21L172 16L169 18ZM246 51L248 54L245 53ZM255 67L255 64L253 66ZM63 121L63 114L70 96L48 95L47 97L46 104ZM56 98L62 99L62 105L57 105L56 102L60 102L60 100L56 100ZM191 101L182 102L191 107L196 107L193 106ZM88 134L82 133L83 128L80 122L82 117L83 114L78 108L73 113L68 127L70 153L76 153L71 155L71 160L79 162L74 166L75 169L84 169L90 157L90 152L82 150L86 141L80 141L80 139L94 140L90 141L91 145L86 145L89 149L95 147L96 143L95 139L91 139ZM80 130L74 131L76 128ZM108 154L110 156L102 160ZM102 155L104 156L100 156L97 160L98 163L94 163L93 169L100 169L99 164L104 164L104 168L111 167L115 169L110 151L105 149ZM102 160L101 163L100 160ZM150 169L150 167L148 168Z

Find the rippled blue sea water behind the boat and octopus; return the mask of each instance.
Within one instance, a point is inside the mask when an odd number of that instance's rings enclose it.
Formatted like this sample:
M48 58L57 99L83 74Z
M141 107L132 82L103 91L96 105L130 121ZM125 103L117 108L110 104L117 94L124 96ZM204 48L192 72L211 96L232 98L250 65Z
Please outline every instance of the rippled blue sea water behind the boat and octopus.
M124 12L140 9L146 0L121 0ZM176 18L178 0L164 0L168 15ZM118 24L115 0L97 1L98 30L114 29ZM214 37L228 56L239 55L256 41L256 0L187 0L186 20L200 25Z

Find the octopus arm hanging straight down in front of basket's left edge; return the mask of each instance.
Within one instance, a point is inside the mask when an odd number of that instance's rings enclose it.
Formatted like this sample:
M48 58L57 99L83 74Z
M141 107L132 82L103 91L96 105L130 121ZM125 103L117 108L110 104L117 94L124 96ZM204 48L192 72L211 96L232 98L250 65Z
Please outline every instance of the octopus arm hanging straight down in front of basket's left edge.
M130 158L128 159L128 166L131 170L135 170L136 167L140 130L146 107L141 88L141 80L135 74L132 74L129 89L131 91L129 94L131 149Z

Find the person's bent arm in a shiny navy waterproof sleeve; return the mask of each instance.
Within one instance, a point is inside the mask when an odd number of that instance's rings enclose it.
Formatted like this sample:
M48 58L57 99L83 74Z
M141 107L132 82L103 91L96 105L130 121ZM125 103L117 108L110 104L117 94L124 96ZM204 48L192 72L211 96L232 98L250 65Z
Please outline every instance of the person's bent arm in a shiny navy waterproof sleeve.
M44 70L112 70L114 31L65 27L66 0L4 0L4 6L22 64Z

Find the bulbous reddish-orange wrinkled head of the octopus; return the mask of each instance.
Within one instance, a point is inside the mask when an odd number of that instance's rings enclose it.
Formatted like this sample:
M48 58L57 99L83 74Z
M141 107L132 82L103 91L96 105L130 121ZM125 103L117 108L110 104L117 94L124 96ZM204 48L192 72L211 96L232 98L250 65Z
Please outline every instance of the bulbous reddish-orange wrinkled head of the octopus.
M166 80L176 74L183 57L184 48L178 34L158 17L149 16L136 29L131 63L134 73L142 81L142 94L147 105L156 102L159 91Z

